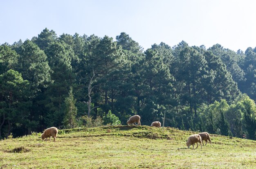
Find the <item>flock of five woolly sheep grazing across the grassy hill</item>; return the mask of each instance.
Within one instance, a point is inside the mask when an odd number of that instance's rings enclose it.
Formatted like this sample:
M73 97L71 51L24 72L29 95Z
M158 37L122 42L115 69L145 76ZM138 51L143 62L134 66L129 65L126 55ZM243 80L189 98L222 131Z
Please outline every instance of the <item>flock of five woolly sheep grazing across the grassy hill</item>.
M140 116L135 115L129 118L129 120L127 121L127 125L141 125L140 123ZM137 124L136 124L137 123ZM152 122L152 124L150 125L152 127L161 127L161 122L155 121ZM56 136L58 134L58 129L56 127L50 127L48 129L46 129L43 134L41 135L41 139L42 141L47 142L47 139L49 138L50 142L51 142L51 138L53 137L54 142L56 142ZM207 132L203 132L203 133L199 133L199 134L194 134L192 136L189 136L188 141L186 142L186 145L189 149L189 147L192 145L193 149L194 149L194 145L197 144L196 148L198 148L198 142L201 145L201 149L202 149L202 144L204 145L204 143L202 141L206 141L205 145L207 145L207 142L209 141L211 144L211 139L210 139L210 135Z

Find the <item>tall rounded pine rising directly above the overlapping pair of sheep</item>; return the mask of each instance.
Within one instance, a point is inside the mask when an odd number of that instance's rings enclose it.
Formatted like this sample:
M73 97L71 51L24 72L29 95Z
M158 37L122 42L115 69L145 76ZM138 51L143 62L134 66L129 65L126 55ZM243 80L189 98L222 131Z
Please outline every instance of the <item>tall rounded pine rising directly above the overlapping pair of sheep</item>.
M189 47L184 41L173 48L173 56L171 73L176 79L175 95L182 103L188 103L189 116L197 118L197 110L205 94L203 82L207 73L207 61L201 53Z

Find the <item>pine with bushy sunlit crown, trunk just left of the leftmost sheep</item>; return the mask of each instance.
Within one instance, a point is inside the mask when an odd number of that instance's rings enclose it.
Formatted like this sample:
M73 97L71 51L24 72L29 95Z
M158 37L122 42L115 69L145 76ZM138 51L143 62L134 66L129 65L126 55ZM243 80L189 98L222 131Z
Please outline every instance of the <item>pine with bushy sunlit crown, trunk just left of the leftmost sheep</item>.
M28 120L30 122L39 122L40 125L43 124L43 118L45 117L45 105L42 102L44 100L45 89L53 82L51 79L52 70L49 67L47 56L44 51L41 50L34 42L31 40L25 40L24 43L19 41L13 48L19 54L17 71L22 74L24 80L28 80L31 84L31 91L34 92L32 97L33 105L29 110L31 116ZM38 125L31 124L33 128L38 127ZM28 133L30 129L28 129Z

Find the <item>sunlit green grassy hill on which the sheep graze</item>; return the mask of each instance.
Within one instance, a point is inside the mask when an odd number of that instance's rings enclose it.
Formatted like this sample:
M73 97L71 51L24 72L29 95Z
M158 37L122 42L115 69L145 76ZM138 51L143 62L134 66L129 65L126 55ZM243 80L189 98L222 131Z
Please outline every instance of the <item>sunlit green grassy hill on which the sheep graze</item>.
M0 141L0 169L256 167L256 141L211 135L212 145L187 149L193 133L110 126L61 130L56 142L42 142L33 133Z

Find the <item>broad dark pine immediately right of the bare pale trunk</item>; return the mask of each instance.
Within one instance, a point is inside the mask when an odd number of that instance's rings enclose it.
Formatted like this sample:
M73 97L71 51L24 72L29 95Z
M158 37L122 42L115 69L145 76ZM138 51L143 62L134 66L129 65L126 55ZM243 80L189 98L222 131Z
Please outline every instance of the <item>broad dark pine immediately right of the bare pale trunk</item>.
M96 47L93 47L92 52L88 53L86 62L87 69L90 69L88 77L92 77L93 69L95 78L98 79L96 85L99 87L95 90L98 89L104 102L101 109L108 113L108 110L114 109L119 90L123 89L122 82L130 70L130 61L124 57L117 42L113 42L112 38L105 36L97 43Z

